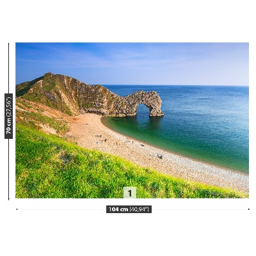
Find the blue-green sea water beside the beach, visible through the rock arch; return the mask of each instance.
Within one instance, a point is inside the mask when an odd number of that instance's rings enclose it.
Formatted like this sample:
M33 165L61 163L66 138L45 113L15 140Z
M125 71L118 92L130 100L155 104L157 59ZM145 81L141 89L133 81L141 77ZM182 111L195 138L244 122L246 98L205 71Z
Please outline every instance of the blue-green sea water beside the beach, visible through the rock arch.
M120 96L159 93L164 116L140 104L132 117L104 117L107 127L183 156L249 172L248 86L104 85Z

